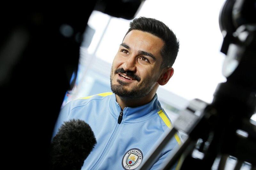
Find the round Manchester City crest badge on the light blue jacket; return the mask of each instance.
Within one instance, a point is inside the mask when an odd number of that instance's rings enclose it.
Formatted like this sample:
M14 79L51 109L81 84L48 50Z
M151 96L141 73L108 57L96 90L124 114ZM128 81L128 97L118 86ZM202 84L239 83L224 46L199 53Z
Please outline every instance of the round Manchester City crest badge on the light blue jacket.
M139 149L130 149L124 154L124 157L122 159L123 168L129 170L136 169L140 166L142 159L143 154Z

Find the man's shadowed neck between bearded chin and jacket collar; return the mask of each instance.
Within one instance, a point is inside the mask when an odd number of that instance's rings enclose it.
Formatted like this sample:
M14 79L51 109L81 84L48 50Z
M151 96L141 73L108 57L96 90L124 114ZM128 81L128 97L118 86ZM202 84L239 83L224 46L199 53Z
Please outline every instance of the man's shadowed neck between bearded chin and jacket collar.
M149 103L153 97L155 96L156 92L153 94L148 94L145 97L139 98L139 99L127 99L127 98L121 98L118 95L116 95L116 101L121 107L122 110L124 110L124 107L137 107L141 105L145 105Z

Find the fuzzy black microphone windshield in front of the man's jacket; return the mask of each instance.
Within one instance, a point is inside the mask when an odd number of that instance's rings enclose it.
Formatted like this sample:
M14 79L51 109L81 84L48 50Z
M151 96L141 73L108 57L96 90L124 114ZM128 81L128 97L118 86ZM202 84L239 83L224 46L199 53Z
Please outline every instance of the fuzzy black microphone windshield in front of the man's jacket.
M64 122L52 139L52 170L80 170L96 143L91 127L83 120Z

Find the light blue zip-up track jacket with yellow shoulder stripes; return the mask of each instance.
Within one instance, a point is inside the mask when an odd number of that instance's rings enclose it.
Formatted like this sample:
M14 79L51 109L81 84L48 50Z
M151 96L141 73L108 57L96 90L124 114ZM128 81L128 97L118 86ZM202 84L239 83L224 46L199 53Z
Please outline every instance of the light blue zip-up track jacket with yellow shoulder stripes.
M112 92L73 100L61 109L53 136L70 119L88 123L97 140L82 170L139 169L156 141L172 127L157 95L146 105L125 107L122 112ZM151 169L159 169L178 143L180 138L176 134L161 155L156 155L157 161Z

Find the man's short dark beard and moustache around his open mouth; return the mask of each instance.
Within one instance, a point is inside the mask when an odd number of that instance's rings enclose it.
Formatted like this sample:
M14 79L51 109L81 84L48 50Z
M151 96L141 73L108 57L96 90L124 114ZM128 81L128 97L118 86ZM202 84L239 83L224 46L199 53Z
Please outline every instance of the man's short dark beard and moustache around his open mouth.
M117 69L115 74L117 73L125 73L127 76L134 78L138 82L140 82L140 77L135 75L132 71L124 71L123 68ZM127 90L125 87L128 86L130 83L125 83L121 80L116 80L118 84L113 84L113 76L115 75L113 72L113 67L111 67L110 73L110 86L112 92L118 95L120 98L123 99L140 99L147 96L151 90L153 89L154 85L156 84L152 78L148 77L141 81L140 85L133 85L130 90Z

